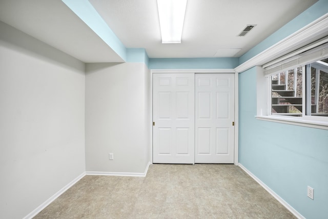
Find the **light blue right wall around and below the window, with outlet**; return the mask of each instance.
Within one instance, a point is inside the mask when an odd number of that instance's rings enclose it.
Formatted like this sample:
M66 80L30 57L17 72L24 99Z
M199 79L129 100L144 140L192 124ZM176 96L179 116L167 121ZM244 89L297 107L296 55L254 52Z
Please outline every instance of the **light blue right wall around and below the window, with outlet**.
M239 74L239 163L308 219L328 215L328 130L260 121L256 70ZM314 188L314 200L306 188Z

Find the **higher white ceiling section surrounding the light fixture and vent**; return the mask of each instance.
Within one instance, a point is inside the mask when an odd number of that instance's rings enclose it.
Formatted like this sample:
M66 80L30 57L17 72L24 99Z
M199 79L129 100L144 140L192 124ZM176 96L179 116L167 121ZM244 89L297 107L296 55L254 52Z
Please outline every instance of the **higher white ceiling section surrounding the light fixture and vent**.
M152 58L239 57L315 2L188 0L182 43L170 45L161 44L156 0L90 0L126 47ZM246 25L257 26L237 36Z

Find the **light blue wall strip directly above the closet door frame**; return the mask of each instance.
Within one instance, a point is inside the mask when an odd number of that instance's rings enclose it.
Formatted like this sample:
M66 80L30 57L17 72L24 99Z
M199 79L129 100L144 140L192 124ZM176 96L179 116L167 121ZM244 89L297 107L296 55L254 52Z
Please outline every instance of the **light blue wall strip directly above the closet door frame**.
M238 58L150 58L150 69L232 69Z

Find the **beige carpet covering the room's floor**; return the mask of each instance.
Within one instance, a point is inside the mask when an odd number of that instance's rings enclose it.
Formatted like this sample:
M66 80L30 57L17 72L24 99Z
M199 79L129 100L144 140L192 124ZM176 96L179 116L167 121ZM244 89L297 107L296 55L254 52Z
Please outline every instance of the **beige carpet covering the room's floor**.
M235 165L150 165L83 177L34 218L296 218Z

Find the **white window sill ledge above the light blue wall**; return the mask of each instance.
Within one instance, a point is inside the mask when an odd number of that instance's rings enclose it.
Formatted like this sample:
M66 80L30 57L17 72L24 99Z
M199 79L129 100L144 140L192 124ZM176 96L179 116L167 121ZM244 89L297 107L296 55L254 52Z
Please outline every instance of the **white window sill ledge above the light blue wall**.
M304 118L295 118L291 116L275 116L275 115L257 115L258 120L264 120L269 122L284 123L295 126L305 126L317 129L328 130L328 122L317 120L305 120Z

